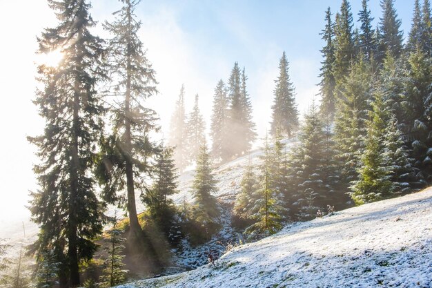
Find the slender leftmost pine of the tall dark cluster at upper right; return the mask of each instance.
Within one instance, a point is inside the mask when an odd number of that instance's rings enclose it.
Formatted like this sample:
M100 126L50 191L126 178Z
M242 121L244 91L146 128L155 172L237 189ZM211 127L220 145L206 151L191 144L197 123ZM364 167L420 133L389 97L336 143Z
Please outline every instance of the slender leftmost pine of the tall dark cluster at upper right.
M326 42L326 46L322 48L321 53L324 61L321 62L320 68L321 82L320 94L322 97L320 113L324 117L333 120L335 114L335 77L333 75L333 62L335 61L335 47L333 44L334 31L331 21L330 7L326 10L326 27L321 32L322 39Z

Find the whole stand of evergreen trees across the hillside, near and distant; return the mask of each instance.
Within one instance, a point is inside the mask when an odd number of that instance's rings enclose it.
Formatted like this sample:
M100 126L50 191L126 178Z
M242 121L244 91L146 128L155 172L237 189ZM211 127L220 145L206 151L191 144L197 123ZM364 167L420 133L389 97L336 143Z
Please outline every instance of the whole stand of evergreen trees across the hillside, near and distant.
M137 36L139 0L120 1L115 21L104 23L110 39L103 40L90 32L95 22L86 1L48 0L59 24L38 38L39 52L60 49L63 59L59 66L38 68L43 88L35 104L46 127L43 135L29 137L41 159L34 169L40 188L30 202L32 220L40 227L30 247L37 260L37 287L80 285L81 271L98 251L97 240L108 222L112 227L104 236L109 245L102 253L100 287L124 281L125 251L137 254L130 259L136 265L163 267L161 255L186 235L194 243L209 240L220 227L221 213L212 195L217 189L212 162L247 154L257 137L245 69L235 62L227 84L219 80L215 88L211 148L198 95L186 116L184 86L171 122L170 146L151 140L159 126L156 111L146 108L145 100L157 94L155 71ZM302 126L282 54L271 137L266 137L261 164L246 168L233 207L233 224L246 234L266 236L286 221L322 215L327 205L344 209L431 183L429 0L415 0L405 44L393 0L381 1L376 29L367 3L362 1L356 29L348 0L342 0L334 21L330 8L326 11L322 101L319 107L311 104ZM299 145L287 152L284 138L293 136ZM195 202L176 207L170 195L177 192L177 169L194 162L190 193ZM135 191L146 204L140 215ZM128 211L126 225L119 227L117 218L104 215L108 205ZM0 243L0 256L6 249ZM10 271L10 262L0 257L1 276L3 271ZM19 276L2 279L0 287L21 285Z

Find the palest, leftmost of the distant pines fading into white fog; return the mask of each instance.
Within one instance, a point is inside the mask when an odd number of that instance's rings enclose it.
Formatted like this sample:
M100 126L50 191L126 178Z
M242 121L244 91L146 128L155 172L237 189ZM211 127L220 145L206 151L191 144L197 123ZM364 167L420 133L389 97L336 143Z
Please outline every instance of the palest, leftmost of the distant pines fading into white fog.
M183 171L189 164L187 159L188 145L184 93L184 85L181 85L179 99L175 102L175 111L170 123L169 144L175 147L174 160L179 171Z

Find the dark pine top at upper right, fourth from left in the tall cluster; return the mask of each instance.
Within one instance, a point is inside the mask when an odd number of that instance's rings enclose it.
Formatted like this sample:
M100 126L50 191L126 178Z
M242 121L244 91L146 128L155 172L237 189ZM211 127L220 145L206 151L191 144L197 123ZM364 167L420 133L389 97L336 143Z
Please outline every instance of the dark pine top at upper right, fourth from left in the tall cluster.
M377 57L382 61L387 51L393 57L399 57L402 52L403 32L400 30L401 21L393 6L394 0L381 0L382 18L380 18L380 44Z

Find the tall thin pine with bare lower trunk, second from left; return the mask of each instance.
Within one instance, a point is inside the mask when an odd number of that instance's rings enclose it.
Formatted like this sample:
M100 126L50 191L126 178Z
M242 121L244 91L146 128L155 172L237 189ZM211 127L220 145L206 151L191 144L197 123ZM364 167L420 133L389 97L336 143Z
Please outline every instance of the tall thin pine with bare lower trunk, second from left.
M123 192L126 184L128 241L132 245L142 245L144 238L137 218L135 189L144 190L142 177L149 173L148 157L155 153L148 133L157 131L157 115L145 107L145 100L157 93L157 81L138 37L141 22L137 21L135 8L139 0L121 2L124 6L114 12L115 20L104 24L112 35L108 44L108 68L112 82L110 93L116 95L117 106L111 109L113 131L104 142L106 153L100 174L106 176L103 182L106 184L104 199L107 202L117 202L115 193Z

